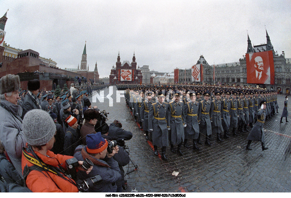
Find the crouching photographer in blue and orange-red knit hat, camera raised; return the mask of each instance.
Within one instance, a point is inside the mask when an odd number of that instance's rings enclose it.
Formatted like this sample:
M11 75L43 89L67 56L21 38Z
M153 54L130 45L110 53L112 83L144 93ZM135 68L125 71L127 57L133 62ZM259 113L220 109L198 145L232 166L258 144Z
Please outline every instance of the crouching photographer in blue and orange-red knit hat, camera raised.
M120 169L113 156L118 153L116 141L107 141L101 136L101 132L86 136L87 146L78 146L74 157L77 160L88 158L93 162L93 169L87 175L85 171L78 171L79 179L86 179L100 175L102 181L89 189L89 192L116 192L116 181L120 179Z

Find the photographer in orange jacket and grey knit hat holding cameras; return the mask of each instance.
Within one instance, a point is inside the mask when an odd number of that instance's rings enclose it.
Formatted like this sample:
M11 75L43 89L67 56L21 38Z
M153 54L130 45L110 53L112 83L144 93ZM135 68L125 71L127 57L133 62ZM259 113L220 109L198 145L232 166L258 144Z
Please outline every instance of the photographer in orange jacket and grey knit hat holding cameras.
M23 118L24 135L28 144L22 149L22 171L26 186L32 192L78 192L77 184L64 171L66 160L74 159L81 168L83 159L54 154L52 149L56 134L54 121L45 111L34 109ZM88 168L89 174L93 167Z

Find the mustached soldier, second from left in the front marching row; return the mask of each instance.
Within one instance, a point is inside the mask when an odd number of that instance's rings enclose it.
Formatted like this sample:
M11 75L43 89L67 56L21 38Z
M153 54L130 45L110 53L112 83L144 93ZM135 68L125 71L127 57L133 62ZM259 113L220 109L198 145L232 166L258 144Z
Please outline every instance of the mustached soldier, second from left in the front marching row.
M183 155L181 151L182 143L184 142L184 126L185 120L182 119L184 103L180 101L180 92L173 94L173 101L169 102L168 108L168 123L171 127L171 151L175 153L174 145L178 144L177 153Z

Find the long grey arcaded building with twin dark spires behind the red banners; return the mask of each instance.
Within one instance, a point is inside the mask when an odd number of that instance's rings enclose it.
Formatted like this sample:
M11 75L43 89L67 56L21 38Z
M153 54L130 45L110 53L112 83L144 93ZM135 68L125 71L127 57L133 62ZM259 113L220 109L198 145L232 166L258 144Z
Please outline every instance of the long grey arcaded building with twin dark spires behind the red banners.
M248 84L246 83L246 57L243 55L243 58L239 59L239 62L225 63L215 65L215 84L217 82L221 83L221 85L240 85L240 86L251 86L256 87L259 85L260 87L266 88L268 90L276 90L278 93L289 94L291 88L291 58L285 58L284 51L281 55L278 55L277 52L274 51L273 45L271 44L270 38L268 36L266 30L267 43L261 45L251 45L251 40L248 35L248 50L247 53L251 52L249 49L252 48L253 52L258 52L258 48L266 48L269 50L273 50L273 58L274 58L274 74L275 74L275 83L274 85L267 84ZM200 56L196 64L203 65L203 82L207 84L213 84L213 65L209 65L203 56ZM175 69L178 70L178 81L179 83L192 83L191 82L191 68L190 69ZM185 78L186 77L186 78ZM202 81L202 79L201 79ZM202 84L202 82L200 82Z

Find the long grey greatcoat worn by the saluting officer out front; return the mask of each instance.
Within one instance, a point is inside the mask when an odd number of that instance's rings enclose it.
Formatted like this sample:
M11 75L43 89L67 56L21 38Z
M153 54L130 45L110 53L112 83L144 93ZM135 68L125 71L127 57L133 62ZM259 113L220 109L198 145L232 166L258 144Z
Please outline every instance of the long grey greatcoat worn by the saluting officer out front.
M264 122L266 118L266 111L264 109L258 110L257 118L258 122L255 123L254 127L251 129L248 136L248 140L259 141L265 143L265 134L264 134Z

